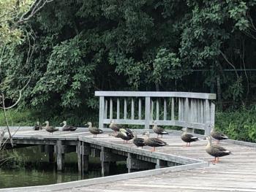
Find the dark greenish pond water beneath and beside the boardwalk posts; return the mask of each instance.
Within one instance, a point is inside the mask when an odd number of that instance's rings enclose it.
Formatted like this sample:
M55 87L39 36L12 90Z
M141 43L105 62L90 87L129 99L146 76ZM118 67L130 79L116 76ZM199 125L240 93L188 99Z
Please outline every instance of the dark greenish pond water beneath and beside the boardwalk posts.
M56 164L48 162L48 154L41 153L40 146L7 150L6 154L11 158L4 164L0 161L0 188L48 185L102 176L99 158L90 157L89 172L82 176L78 173L76 153L65 154L63 172L57 172ZM126 172L125 162L110 166L110 175Z

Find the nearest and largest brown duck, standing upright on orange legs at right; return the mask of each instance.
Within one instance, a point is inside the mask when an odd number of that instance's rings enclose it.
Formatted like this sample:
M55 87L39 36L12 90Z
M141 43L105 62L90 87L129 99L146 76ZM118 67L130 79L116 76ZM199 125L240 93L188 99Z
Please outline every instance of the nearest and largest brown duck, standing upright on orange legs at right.
M206 139L208 139L208 144L206 145L206 153L214 156L213 163L219 163L219 157L231 154L230 150L226 150L224 147L220 147L219 145L212 145L211 136L206 137Z

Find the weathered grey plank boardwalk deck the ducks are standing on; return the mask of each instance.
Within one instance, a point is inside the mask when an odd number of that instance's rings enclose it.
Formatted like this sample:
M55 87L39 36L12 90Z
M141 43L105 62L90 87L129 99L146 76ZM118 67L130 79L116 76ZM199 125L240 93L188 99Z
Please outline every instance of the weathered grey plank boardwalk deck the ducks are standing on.
M91 134L83 128L75 132L58 131L53 136L44 130L20 130L15 135L16 143L29 139L37 142L40 139L42 142L45 140L54 142L56 139L83 141L90 143L91 146L111 147L118 151L122 150L123 153L147 156L151 159L148 161L154 161L154 159L173 160L180 163L183 161L184 166L171 166L56 185L1 189L0 191L256 191L256 144L232 140L221 142L221 145L231 150L233 155L220 158L219 164L208 166L207 162L213 158L205 152L206 140L202 139L192 143L191 147L184 147L185 143L181 141L180 133L170 132L170 135L163 138L168 146L159 147L156 153L152 153L150 147L138 149L135 145L123 144L121 139L109 137L108 133L92 138ZM138 136L141 137L140 134ZM151 134L151 136L156 135ZM160 165L159 161L157 162Z

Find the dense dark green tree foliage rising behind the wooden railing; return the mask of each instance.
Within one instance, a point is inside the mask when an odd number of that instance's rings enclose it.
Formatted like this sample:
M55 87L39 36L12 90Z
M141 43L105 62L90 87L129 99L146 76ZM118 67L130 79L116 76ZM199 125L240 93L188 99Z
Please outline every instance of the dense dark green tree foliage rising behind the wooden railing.
M97 107L94 91L195 91L253 99L256 1L55 0L27 23L28 42L7 48L0 72L20 106ZM26 64L26 65L25 65ZM232 69L226 72L226 69ZM18 87L17 87L18 86Z

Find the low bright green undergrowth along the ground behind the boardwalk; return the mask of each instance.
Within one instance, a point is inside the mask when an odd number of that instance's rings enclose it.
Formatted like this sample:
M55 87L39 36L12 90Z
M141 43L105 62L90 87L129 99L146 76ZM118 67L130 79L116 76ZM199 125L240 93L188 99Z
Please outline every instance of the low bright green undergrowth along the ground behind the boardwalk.
M75 115L72 112L54 114L43 113L37 110L8 110L7 115L10 118L10 126L34 126L39 122L49 120L53 126L59 126L63 120L73 126L84 126L86 120L91 120L97 124L97 111L86 112L86 115ZM4 126L4 113L0 112L0 126ZM129 128L138 126L129 126ZM167 126L168 129L177 129L173 126ZM256 142L256 105L250 107L240 107L237 110L216 111L215 128L223 131L230 139L241 140L245 142Z

